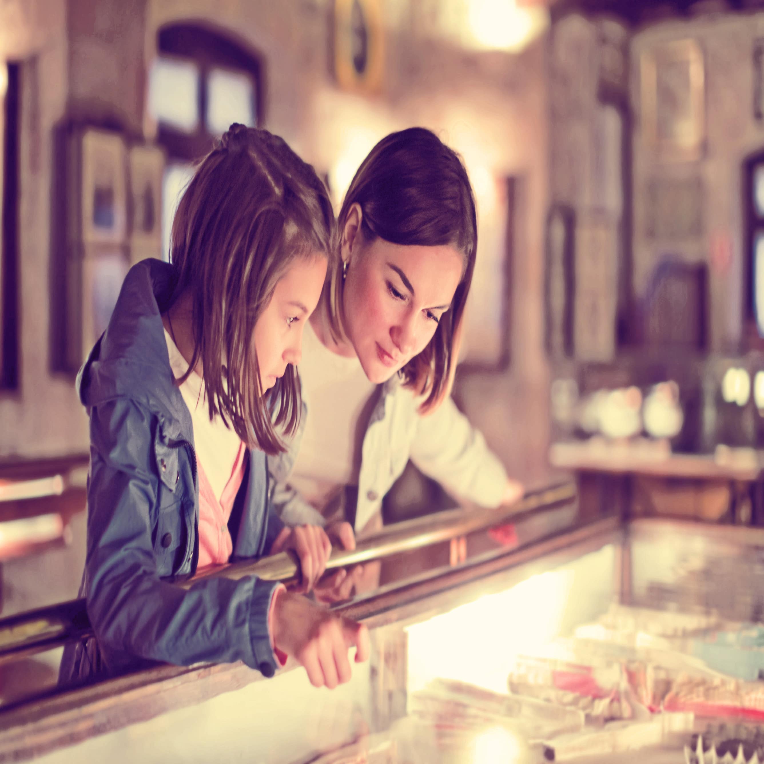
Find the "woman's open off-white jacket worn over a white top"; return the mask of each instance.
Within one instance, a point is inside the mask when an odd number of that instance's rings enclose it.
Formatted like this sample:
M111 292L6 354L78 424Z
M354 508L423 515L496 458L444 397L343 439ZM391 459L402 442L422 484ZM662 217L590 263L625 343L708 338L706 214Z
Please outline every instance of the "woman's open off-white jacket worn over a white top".
M507 472L487 447L481 432L448 397L434 412L420 415L421 402L394 376L379 386L361 446L355 531L361 531L381 506L382 498L400 477L406 462L434 478L455 497L481 507L497 507L507 485ZM268 457L274 481L273 502L287 525L323 524L324 519L289 484L305 421L303 416L289 452Z

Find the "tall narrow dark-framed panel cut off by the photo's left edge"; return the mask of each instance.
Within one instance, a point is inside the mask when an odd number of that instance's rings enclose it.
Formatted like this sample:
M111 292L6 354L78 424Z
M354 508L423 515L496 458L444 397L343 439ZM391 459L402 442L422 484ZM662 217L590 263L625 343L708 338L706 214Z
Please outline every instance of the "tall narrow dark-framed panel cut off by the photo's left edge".
M0 390L18 388L20 65L2 64L2 228L0 228Z

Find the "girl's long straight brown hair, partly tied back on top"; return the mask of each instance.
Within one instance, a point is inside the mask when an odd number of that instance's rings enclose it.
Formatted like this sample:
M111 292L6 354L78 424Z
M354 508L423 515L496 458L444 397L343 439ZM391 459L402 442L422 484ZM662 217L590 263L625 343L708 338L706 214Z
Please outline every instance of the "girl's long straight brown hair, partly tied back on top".
M209 416L219 415L249 446L284 450L277 428L296 429L301 411L293 366L264 396L254 325L299 257L332 260L335 220L324 184L286 142L231 125L202 161L180 200L170 244L173 299L190 290Z

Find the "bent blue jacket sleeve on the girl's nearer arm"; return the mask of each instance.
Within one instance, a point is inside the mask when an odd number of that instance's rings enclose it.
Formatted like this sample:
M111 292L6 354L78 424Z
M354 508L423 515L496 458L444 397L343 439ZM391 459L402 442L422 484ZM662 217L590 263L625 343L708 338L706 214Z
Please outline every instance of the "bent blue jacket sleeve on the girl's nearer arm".
M156 418L125 399L90 414L86 597L99 643L176 665L241 660L272 675L267 616L277 584L209 578L186 591L160 580Z

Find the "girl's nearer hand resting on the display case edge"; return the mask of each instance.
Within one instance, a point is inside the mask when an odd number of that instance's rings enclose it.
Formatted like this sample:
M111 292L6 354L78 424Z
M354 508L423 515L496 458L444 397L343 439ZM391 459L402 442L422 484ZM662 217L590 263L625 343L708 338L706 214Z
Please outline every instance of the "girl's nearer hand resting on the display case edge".
M335 688L351 678L348 649L355 662L367 660L369 632L362 623L336 616L301 594L280 591L273 612L274 645L308 672L313 687Z

